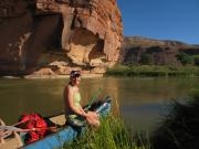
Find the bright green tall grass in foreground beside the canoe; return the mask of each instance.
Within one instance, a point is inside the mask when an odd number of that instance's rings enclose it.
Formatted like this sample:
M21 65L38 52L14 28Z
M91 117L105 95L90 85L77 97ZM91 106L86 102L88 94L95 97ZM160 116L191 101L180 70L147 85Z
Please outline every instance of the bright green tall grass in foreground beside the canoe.
M121 118L109 116L102 120L98 129L87 130L64 149L150 149L149 141L144 141L142 135L130 136Z

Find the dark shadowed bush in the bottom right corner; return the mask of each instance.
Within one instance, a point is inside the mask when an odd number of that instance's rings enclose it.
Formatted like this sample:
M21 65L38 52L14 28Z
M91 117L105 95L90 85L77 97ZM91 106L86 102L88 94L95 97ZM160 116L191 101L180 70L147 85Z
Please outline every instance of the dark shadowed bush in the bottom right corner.
M174 100L171 111L154 131L150 142L154 149L198 149L199 91L191 92L187 103Z

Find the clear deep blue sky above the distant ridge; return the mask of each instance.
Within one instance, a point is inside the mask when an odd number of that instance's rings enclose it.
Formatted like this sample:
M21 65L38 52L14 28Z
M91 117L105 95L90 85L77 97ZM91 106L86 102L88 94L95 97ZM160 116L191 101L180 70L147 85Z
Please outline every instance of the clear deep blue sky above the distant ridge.
M199 0L117 0L125 36L199 44Z

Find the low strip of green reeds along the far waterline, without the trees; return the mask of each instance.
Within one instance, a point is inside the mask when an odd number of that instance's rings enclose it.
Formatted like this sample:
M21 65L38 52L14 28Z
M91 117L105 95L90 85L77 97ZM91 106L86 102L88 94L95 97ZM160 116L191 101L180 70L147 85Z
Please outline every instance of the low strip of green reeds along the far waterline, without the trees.
M106 71L114 76L199 76L198 66L117 65Z

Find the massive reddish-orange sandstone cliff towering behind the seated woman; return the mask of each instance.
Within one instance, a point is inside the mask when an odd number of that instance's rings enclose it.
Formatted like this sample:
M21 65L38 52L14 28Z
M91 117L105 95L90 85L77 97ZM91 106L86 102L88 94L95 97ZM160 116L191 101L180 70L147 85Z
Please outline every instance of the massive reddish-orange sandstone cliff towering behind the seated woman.
M123 41L116 0L1 0L0 73L103 73Z

